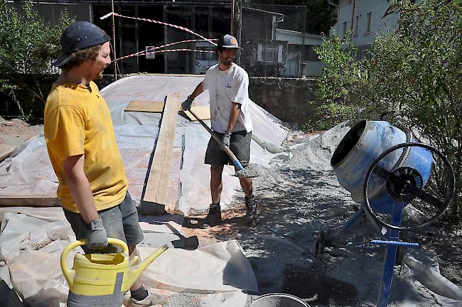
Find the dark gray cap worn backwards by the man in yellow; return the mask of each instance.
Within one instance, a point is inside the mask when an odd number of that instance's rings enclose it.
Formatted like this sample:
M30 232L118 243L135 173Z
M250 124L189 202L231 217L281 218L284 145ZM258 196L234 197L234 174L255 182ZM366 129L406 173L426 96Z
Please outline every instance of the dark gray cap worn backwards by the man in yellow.
M95 45L102 45L110 40L111 38L93 23L88 21L72 23L61 36L61 54L53 62L53 65L61 67L68 63L72 53Z

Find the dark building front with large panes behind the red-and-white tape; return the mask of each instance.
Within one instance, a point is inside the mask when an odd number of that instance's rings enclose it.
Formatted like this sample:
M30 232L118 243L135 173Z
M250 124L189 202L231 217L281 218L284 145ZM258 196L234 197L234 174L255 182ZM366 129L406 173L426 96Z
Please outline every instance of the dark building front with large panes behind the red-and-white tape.
M22 2L9 1L19 11L22 9ZM34 8L45 18L45 21L50 21L52 24L57 24L60 14L67 11L69 16L77 21L90 21L100 26L109 33L113 43L115 41L116 58L167 43L201 39L187 31L160 23L142 21L139 18L182 26L205 38L218 38L225 33L230 33L231 25L231 0L114 1L114 12L124 16L114 17L115 36L112 33L112 17L100 19L112 12L111 1L45 0L34 1ZM194 50L196 44L195 42L181 43L163 49ZM198 56L192 51L131 56L117 61L117 73L194 73L197 71L195 64ZM113 65L112 70L114 70ZM111 68L107 69L107 72L109 71Z

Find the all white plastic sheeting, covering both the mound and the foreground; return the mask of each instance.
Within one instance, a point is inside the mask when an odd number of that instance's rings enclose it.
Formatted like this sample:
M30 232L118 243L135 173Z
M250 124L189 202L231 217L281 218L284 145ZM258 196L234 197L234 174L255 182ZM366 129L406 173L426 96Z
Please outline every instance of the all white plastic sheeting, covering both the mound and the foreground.
M132 99L163 101L173 92L179 92L181 99L186 99L202 80L203 77L191 76L133 76L114 82L101 91L112 115L117 145L129 179L129 192L136 203L140 202L144 190L161 114L124 112L125 107ZM208 92L197 97L194 103L208 104ZM250 112L254 122L250 161L265 167L272 159L288 158L288 149L281 147L288 130L253 102L250 102ZM210 121L206 122L210 125ZM178 195L174 195L174 202L177 202L176 210L185 215L191 209L203 210L210 204L210 168L203 163L209 139L203 126L178 116L173 146L176 160L172 161L171 182L178 180ZM173 169L176 167L178 171ZM231 166L225 167L224 207L229 205L235 193L242 193L239 180L228 176L233 173ZM43 136L0 163L0 195L53 195L57 187ZM9 280L11 277L11 285L31 306L59 306L65 302L68 286L60 270L59 258L73 234L63 210L0 208L0 219L0 261L4 260L0 266L1 278ZM150 250L148 245L156 246L162 243L162 238L171 241L178 237L181 240L181 219L140 219L145 233L143 243L147 244L141 246L142 257ZM151 271L151 268L154 269ZM144 279L169 289L213 291L201 296L204 307L245 306L247 295L242 291L257 291L252 267L234 240L194 251L168 249L149 266Z

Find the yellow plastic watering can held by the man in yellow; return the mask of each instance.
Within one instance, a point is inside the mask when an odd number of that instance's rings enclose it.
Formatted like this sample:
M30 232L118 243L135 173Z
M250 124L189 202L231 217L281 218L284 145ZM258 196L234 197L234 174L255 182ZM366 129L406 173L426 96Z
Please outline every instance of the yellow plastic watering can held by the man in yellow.
M75 254L74 266L69 269L67 259L72 249L86 245L87 240L69 244L61 254L61 269L69 289L82 296L103 296L128 291L151 262L168 249L163 245L141 264L134 265L138 257L129 262L129 248L120 239L108 238L109 244L122 247L122 252L111 254Z

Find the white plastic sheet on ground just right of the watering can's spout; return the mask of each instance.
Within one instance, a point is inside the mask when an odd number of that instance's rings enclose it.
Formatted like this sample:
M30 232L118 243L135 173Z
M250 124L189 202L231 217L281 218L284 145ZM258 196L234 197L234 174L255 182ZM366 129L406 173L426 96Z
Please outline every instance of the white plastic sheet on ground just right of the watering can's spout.
M140 247L141 259L155 250ZM144 276L167 290L258 290L252 266L234 239L190 251L167 249L148 266Z

